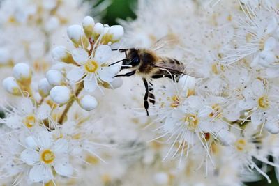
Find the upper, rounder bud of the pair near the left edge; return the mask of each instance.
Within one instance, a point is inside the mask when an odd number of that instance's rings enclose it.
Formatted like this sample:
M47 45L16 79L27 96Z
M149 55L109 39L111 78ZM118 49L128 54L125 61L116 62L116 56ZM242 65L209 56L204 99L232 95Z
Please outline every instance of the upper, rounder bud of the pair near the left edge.
M19 82L24 82L28 79L31 79L31 75L31 68L26 63L17 63L13 67L13 77L15 77L15 79L17 79Z

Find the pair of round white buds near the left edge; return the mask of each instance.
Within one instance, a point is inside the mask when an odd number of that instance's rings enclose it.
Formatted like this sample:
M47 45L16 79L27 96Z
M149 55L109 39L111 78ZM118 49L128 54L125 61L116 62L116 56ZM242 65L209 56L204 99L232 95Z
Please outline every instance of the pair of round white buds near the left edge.
M26 91L31 95L32 70L26 63L17 63L13 68L13 76L3 79L3 87L13 95L23 95Z

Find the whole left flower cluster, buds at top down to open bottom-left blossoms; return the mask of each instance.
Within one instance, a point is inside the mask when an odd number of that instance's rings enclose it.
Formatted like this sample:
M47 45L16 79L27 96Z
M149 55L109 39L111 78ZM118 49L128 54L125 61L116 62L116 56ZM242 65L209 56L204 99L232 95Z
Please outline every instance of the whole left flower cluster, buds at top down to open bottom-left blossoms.
M1 119L1 179L9 185L55 185L63 176L80 176L77 169L86 169L82 162L103 160L96 150L107 140L98 143L98 127L88 113L98 102L89 93L97 87L102 91L100 86L121 86L121 79L114 79L119 66L110 67L109 60L123 28L95 24L87 16L83 26L69 26L67 32L75 48L55 47L56 63L45 78L34 76L36 70L27 63L17 63L13 76L3 79L3 88L19 98L1 107L6 111ZM83 89L86 93L80 95Z

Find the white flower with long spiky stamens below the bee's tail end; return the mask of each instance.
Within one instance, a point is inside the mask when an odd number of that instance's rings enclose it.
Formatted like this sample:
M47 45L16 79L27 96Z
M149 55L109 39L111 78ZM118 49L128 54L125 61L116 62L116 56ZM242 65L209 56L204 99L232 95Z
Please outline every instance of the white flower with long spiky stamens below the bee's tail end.
M191 95L186 98L181 107L165 116L163 125L158 128L158 132L163 133L160 137L169 136L167 141L172 141L172 147L165 158L176 143L179 147L172 157L175 157L179 150L181 150L181 157L185 153L184 150L188 154L188 151L192 150L195 145L203 146L208 154L207 140L213 139L212 137L216 136L215 133L218 130L218 127L212 128L211 125L209 114L212 111L211 107L206 106L199 96Z

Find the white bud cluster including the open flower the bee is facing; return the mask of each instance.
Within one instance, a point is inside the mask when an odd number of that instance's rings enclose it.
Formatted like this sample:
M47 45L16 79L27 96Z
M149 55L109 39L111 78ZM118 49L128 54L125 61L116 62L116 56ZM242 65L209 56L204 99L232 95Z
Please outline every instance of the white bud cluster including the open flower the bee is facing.
M72 25L67 30L68 38L75 49L58 46L52 49L56 62L39 84L40 95L50 98L56 104L77 100L86 111L98 105L93 93L97 88L118 88L121 79L114 79L119 65L110 65L112 47L123 36L120 25L108 26L95 23L90 16L84 17L82 26ZM79 95L84 89L86 95Z

